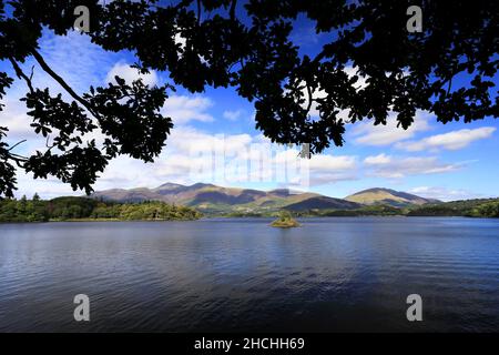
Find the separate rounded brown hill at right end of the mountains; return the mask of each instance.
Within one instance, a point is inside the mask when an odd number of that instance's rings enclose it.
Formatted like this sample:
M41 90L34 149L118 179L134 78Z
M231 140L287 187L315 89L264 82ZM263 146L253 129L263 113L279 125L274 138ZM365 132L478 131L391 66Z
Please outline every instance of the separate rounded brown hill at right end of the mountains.
M368 189L353 195L346 196L345 200L365 205L384 204L394 207L405 207L409 205L424 205L427 203L439 203L438 200L424 199L407 192L395 191L390 189Z

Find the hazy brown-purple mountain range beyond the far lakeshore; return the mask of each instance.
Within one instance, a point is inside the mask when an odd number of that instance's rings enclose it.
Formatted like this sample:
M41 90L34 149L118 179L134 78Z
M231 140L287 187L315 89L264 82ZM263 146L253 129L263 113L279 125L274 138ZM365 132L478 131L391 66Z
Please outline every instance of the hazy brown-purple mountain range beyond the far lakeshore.
M438 200L424 199L406 192L381 187L364 190L345 199L335 199L318 193L295 192L288 189L259 191L204 183L193 185L165 183L154 189L111 189L94 192L92 197L116 202L163 201L195 207L206 214L271 213L281 209L294 212L356 210L366 205L404 207L439 202Z

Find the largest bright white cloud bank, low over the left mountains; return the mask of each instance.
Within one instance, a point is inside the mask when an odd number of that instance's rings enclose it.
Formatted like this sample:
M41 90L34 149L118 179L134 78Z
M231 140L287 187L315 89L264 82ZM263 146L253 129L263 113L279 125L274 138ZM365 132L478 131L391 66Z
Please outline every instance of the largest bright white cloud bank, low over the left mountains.
M111 162L95 190L200 181L220 185L285 182L289 186L303 186L304 172L309 175L306 183L310 185L357 179L355 156L314 155L306 160L298 158L298 153L296 149L272 144L261 135L208 134L179 126L154 163L121 156Z

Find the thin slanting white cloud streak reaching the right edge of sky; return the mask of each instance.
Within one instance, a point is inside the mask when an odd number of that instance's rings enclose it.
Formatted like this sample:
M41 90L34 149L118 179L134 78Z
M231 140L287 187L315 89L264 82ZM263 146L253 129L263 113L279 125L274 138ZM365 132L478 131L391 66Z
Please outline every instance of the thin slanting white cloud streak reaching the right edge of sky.
M418 152L424 150L459 150L468 146L471 142L490 138L496 131L493 126L483 126L480 129L465 129L452 131L444 134L431 135L420 141L400 142L397 148L409 152Z

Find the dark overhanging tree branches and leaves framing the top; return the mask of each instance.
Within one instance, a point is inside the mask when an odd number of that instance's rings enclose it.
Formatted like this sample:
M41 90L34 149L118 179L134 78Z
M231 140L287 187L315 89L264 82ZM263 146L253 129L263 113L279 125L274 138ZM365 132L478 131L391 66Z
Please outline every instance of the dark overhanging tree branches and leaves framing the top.
M422 31L413 33L406 27L413 2L0 0L0 60L26 83L21 100L31 126L47 139L47 149L22 156L14 151L22 141L6 143L8 128L0 126L0 197L13 196L14 166L90 193L112 159L152 162L173 128L160 109L174 85L235 88L254 103L256 128L267 138L309 143L310 153L342 145L345 123L386 124L390 112L401 129L416 110L442 123L497 116L499 3L422 0ZM43 28L68 36L80 6L90 10L82 36L106 51L133 52L138 70L166 72L171 83L150 88L115 78L83 93L71 88L45 62L39 41ZM299 51L292 32L298 17L324 42L318 53ZM71 101L35 88L37 73L23 68L29 59ZM11 77L0 71L0 100ZM105 139L84 141L90 132Z

